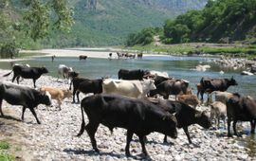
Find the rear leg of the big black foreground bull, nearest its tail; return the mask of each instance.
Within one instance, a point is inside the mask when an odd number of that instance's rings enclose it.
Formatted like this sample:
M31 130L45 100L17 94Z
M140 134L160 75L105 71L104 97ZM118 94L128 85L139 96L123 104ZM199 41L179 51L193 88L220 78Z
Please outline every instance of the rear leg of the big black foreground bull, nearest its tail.
M85 130L87 132L87 134L89 135L90 139L91 139L91 143L92 143L92 146L93 146L93 149L95 152L100 152L100 150L97 148L97 142L96 142L96 139L95 139L95 133L99 127L100 123L88 123L86 126L85 126Z

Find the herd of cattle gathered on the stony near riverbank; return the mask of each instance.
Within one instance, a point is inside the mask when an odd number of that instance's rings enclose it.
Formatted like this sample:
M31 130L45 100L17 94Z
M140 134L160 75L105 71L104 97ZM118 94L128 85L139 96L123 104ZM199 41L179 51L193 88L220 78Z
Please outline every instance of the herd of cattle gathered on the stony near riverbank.
M9 76L13 72L12 82L16 79L19 84L20 77L32 79L34 88L36 80L41 75L48 73L46 67L29 67L15 64L12 70L4 75ZM108 127L111 132L116 127L127 129L127 142L125 153L130 155L129 145L133 134L137 134L142 147L142 152L148 155L145 148L145 138L147 134L158 132L167 136L177 137L176 128L183 128L190 143L188 127L198 124L205 129L209 129L211 121L215 120L217 127L220 118L224 120L228 116L228 134L230 122L233 121L233 132L236 132L237 121L250 121L251 133L254 133L256 124L256 101L250 97L242 97L238 93L229 93L226 90L231 85L237 85L236 80L231 79L210 79L202 78L196 85L197 96L192 94L189 88L189 81L174 79L167 73L148 70L126 70L120 69L119 80L101 78L98 80L85 79L71 67L60 64L59 72L64 79L70 79L69 90L58 89L56 87L42 86L39 90L14 84L9 81L0 81L0 113L2 111L2 101L5 99L9 104L22 105L22 119L28 108L37 123L41 123L37 118L34 108L38 104L51 104L51 99L58 101L58 108L61 110L62 100L73 96L73 103L80 103L79 94L92 93L81 101L82 125L78 135L84 130L91 139L93 149L99 152L95 139L97 129L101 124ZM73 93L70 92L73 87ZM200 104L198 99L201 95L203 102L204 93L215 95L215 101L210 104L210 115L206 111L199 111L196 106ZM174 95L174 100L169 99ZM163 98L161 98L161 96ZM83 112L89 119L85 125ZM224 125L225 126L225 125Z

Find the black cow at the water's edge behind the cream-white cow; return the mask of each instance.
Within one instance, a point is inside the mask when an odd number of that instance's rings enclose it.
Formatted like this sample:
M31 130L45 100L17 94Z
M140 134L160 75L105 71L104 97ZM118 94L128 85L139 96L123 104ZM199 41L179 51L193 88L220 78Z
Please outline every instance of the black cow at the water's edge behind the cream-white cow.
M119 80L143 80L145 75L149 74L148 70L119 70Z

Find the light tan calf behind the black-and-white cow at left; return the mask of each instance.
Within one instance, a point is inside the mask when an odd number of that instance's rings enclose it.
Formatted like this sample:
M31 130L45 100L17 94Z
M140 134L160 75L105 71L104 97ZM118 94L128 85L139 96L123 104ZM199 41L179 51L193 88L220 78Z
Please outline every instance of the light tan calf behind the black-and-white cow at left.
M47 87L43 86L40 88L40 91L47 91L52 99L56 99L58 101L58 108L61 110L62 100L64 98L71 98L72 93L69 90L64 90L60 88Z

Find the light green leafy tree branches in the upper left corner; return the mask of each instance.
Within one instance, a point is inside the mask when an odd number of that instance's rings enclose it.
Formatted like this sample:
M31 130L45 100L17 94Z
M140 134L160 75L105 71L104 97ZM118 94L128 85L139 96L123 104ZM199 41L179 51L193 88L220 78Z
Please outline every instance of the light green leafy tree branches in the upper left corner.
M66 0L1 0L0 58L11 58L16 48L39 46L50 30L69 31L72 9Z

